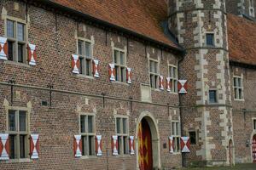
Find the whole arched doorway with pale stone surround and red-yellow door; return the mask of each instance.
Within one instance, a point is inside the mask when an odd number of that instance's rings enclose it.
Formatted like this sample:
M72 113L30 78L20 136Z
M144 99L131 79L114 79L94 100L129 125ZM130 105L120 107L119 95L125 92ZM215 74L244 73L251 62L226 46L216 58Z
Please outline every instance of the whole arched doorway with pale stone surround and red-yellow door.
M137 170L160 169L160 136L157 121L150 112L143 111L138 117L136 137ZM144 147L146 145L147 147ZM148 167L144 166L145 161L148 163ZM143 162L143 166L141 162Z

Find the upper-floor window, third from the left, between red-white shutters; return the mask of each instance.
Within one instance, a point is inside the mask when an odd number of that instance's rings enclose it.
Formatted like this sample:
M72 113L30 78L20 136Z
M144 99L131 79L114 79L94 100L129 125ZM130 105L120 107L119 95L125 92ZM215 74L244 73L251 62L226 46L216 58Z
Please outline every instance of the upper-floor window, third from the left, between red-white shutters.
M119 82L126 82L126 61L125 52L121 50L113 50L113 63L116 71L115 80Z

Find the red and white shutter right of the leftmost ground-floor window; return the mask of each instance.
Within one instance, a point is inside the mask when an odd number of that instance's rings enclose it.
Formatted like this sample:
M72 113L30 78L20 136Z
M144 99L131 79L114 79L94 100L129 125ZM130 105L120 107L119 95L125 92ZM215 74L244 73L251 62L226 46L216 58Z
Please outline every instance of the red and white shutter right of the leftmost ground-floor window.
M31 159L38 159L39 155L39 135L30 135L30 157Z

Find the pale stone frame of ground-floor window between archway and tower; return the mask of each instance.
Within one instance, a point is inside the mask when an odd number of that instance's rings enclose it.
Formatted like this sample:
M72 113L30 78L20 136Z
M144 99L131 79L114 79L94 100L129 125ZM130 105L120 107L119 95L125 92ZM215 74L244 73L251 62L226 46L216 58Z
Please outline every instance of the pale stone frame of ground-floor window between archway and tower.
M175 123L175 129L173 130L172 128L172 123ZM178 130L177 130L178 127ZM171 121L171 129L172 129L172 137L173 137L173 141L175 140L175 147L173 148L173 154L180 154L181 153L181 145L180 145L180 139L181 139L181 128L180 128L180 121L179 120L172 120ZM175 133L173 133L175 132ZM178 139L178 142L177 142ZM177 150L177 146L178 149Z

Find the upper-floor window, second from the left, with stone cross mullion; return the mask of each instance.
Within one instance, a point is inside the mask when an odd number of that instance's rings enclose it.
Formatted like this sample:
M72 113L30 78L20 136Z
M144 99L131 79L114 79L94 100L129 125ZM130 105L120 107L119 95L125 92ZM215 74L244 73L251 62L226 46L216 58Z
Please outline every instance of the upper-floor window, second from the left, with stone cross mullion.
M92 45L91 42L82 40L78 41L78 53L80 60L80 74L92 77Z

